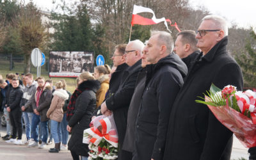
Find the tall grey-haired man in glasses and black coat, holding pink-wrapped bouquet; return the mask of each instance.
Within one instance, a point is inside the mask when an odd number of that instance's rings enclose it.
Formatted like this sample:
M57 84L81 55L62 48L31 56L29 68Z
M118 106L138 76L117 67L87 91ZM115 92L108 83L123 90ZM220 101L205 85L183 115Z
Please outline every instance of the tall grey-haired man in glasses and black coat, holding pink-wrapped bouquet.
M215 15L202 19L196 46L202 50L173 103L164 159L230 159L232 132L222 125L204 104L211 84L224 88L228 84L243 88L241 68L227 52L227 22Z

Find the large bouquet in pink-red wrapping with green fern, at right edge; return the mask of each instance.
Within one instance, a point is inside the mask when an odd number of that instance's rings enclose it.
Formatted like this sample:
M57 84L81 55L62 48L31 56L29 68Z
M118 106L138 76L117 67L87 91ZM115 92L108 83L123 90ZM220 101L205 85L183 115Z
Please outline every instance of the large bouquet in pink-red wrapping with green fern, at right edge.
M235 86L223 90L211 85L209 92L198 103L206 104L214 116L232 131L244 147L256 146L256 93L237 91Z

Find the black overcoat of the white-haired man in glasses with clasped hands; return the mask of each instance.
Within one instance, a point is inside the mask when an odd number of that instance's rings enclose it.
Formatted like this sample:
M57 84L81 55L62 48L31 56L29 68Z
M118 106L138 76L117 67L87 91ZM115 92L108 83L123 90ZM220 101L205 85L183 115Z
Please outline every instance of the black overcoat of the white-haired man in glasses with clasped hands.
M126 154L123 154L125 152L122 150L122 145L127 125L127 113L134 92L136 79L141 68L141 60L127 68L124 74L128 76L125 78L124 82L120 84L120 87L114 95L106 99L107 108L113 111L118 132L118 159L124 160L128 158L125 156Z

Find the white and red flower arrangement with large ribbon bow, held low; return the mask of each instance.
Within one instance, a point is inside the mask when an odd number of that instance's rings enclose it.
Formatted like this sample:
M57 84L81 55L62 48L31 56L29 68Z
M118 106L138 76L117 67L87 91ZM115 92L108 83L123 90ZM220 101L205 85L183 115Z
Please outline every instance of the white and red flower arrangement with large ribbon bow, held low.
M89 144L88 159L116 159L118 156L118 134L111 116L97 116L84 130L83 143Z

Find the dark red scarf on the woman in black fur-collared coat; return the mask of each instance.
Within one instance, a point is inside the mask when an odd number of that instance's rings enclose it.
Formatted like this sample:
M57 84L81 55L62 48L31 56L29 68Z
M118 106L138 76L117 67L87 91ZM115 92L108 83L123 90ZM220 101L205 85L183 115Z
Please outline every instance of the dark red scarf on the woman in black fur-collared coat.
M70 120L70 118L74 115L76 99L82 92L84 92L84 90L88 90L88 88L83 88L83 89L76 88L74 93L71 95L70 101L68 103L68 108L67 108L67 121Z

